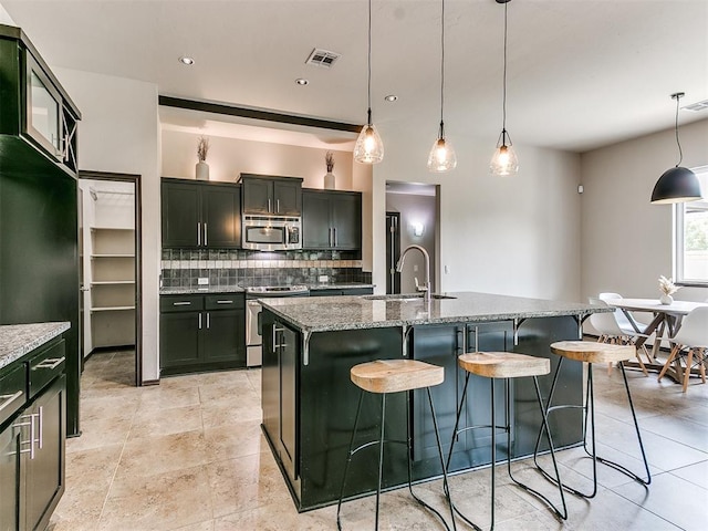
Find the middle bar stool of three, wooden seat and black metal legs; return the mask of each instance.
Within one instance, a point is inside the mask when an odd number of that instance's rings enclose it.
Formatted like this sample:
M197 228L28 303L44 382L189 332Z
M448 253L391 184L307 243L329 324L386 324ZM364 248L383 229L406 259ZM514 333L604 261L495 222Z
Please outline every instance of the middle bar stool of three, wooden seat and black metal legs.
M541 412L541 416L543 418L543 423L541 429L545 429L545 434L549 440L549 447L551 450L551 459L553 460L553 467L555 469L555 477L558 478L558 482L560 485L560 477L558 472L558 464L555 461L555 451L553 448L553 439L551 437L551 430L549 429L548 418L545 408L543 407L543 402L541 399L541 389L539 388L538 376L542 376L544 374L549 374L551 372L551 362L545 357L537 357L529 356L525 354L516 354L512 352L471 352L462 354L458 357L458 364L460 368L464 368L467 373L465 376L465 387L462 389L462 397L460 398L459 408L457 410L457 419L455 421L455 431L452 434L452 442L450 444L450 452L448 454L447 465L449 466L450 459L452 457L452 450L455 448L455 440L458 435L464 431L468 431L471 429L479 428L491 428L491 527L490 529L494 529L494 469L497 464L497 430L502 429L507 433L507 471L511 480L517 483L519 487L524 489L527 492L534 494L537 498L543 500L555 514L565 520L568 519L568 509L565 507L565 496L563 494L563 489L559 487L559 493L561 497L561 503L563 506L563 510L559 510L544 494L541 492L530 488L529 486L522 483L517 480L511 473L511 414L510 414L510 389L509 389L509 379L510 378L520 378L520 377L533 377L533 385L535 387L535 395L539 403L539 410ZM477 376L482 376L490 379L491 384L491 424L489 425L473 425L466 426L460 428L460 417L462 415L462 409L467 399L467 387L469 385L469 377L475 374ZM504 381L504 425L498 426L496 420L496 412L494 412L494 381L503 379ZM450 501L450 503L452 503ZM468 524L470 524L476 530L480 531L480 528L473 523L468 517L462 514L455 504L452 504L455 512L457 512L462 520L465 520Z

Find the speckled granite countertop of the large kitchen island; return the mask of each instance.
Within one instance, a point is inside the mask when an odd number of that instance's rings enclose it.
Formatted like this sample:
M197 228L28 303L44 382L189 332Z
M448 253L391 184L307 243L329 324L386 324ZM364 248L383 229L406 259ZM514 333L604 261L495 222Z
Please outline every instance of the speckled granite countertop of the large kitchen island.
M400 300L400 295L345 295L332 298L289 298L261 301L287 323L302 332L377 329L420 324L445 324L473 321L502 321L527 317L577 315L613 311L573 302L525 299L490 293L446 293L450 299L423 298ZM373 296L373 299L372 299ZM454 299L452 299L454 298Z

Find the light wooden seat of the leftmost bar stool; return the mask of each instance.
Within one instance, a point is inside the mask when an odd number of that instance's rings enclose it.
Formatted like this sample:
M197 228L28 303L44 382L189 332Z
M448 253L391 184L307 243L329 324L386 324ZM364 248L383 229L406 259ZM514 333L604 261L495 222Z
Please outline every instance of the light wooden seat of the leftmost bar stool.
M441 384L445 368L417 360L376 360L354 365L350 376L369 393L397 393Z

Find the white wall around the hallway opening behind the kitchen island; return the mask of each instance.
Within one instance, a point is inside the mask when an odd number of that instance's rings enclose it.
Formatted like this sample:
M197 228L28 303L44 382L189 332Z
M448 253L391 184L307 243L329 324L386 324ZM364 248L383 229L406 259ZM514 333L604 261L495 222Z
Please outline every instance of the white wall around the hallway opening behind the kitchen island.
M580 156L516 145L519 174L493 177L488 166L496 138L457 138L448 131L458 166L430 174L429 129L379 125L386 156L374 167L373 183L377 292L386 285L385 183L398 180L440 185L439 291L579 301Z

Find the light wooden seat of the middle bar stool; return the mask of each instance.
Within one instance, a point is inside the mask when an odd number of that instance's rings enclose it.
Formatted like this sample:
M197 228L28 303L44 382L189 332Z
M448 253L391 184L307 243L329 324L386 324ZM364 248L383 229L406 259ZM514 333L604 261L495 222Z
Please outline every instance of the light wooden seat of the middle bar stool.
M469 352L457 360L468 373L487 378L520 378L551 372L550 360L513 352Z

